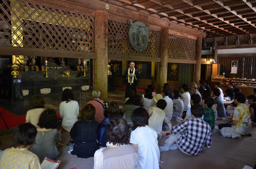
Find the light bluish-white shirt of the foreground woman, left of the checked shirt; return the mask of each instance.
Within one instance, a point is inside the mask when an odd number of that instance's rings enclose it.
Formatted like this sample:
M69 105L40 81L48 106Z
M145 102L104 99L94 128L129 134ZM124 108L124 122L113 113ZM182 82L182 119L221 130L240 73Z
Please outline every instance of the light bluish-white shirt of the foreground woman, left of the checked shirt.
M159 169L160 151L157 138L158 134L149 126L137 127L132 131L130 143L138 146L137 169Z

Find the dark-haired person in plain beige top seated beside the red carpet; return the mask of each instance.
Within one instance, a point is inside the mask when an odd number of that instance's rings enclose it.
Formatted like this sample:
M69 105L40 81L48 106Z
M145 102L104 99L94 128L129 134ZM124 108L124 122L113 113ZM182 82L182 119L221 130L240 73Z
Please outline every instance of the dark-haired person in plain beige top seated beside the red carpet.
M38 124L39 117L42 114L42 112L45 111L44 104L45 102L43 97L39 95L33 97L32 104L31 104L33 109L26 112L26 123L31 123L36 128L38 127L37 124Z

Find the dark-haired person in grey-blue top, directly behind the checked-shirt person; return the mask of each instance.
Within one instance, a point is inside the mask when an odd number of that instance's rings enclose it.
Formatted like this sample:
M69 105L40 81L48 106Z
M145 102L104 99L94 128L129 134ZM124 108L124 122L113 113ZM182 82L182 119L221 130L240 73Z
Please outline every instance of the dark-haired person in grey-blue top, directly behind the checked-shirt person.
M181 99L180 91L173 90L173 117L182 116L184 110L184 103Z

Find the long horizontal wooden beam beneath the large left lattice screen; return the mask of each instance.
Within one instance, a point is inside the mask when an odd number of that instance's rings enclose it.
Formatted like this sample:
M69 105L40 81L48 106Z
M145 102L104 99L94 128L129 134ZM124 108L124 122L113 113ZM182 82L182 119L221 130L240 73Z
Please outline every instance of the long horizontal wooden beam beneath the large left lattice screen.
M61 58L95 58L95 53L47 50L39 48L23 48L14 46L0 46L1 55L26 55L33 57L61 57Z

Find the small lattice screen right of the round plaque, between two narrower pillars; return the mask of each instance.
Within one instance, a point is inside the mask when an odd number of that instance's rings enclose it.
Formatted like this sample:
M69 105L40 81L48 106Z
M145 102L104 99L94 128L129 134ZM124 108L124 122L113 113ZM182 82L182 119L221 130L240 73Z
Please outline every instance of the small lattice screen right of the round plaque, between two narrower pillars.
M168 57L182 60L196 60L196 41L177 35L168 35Z

